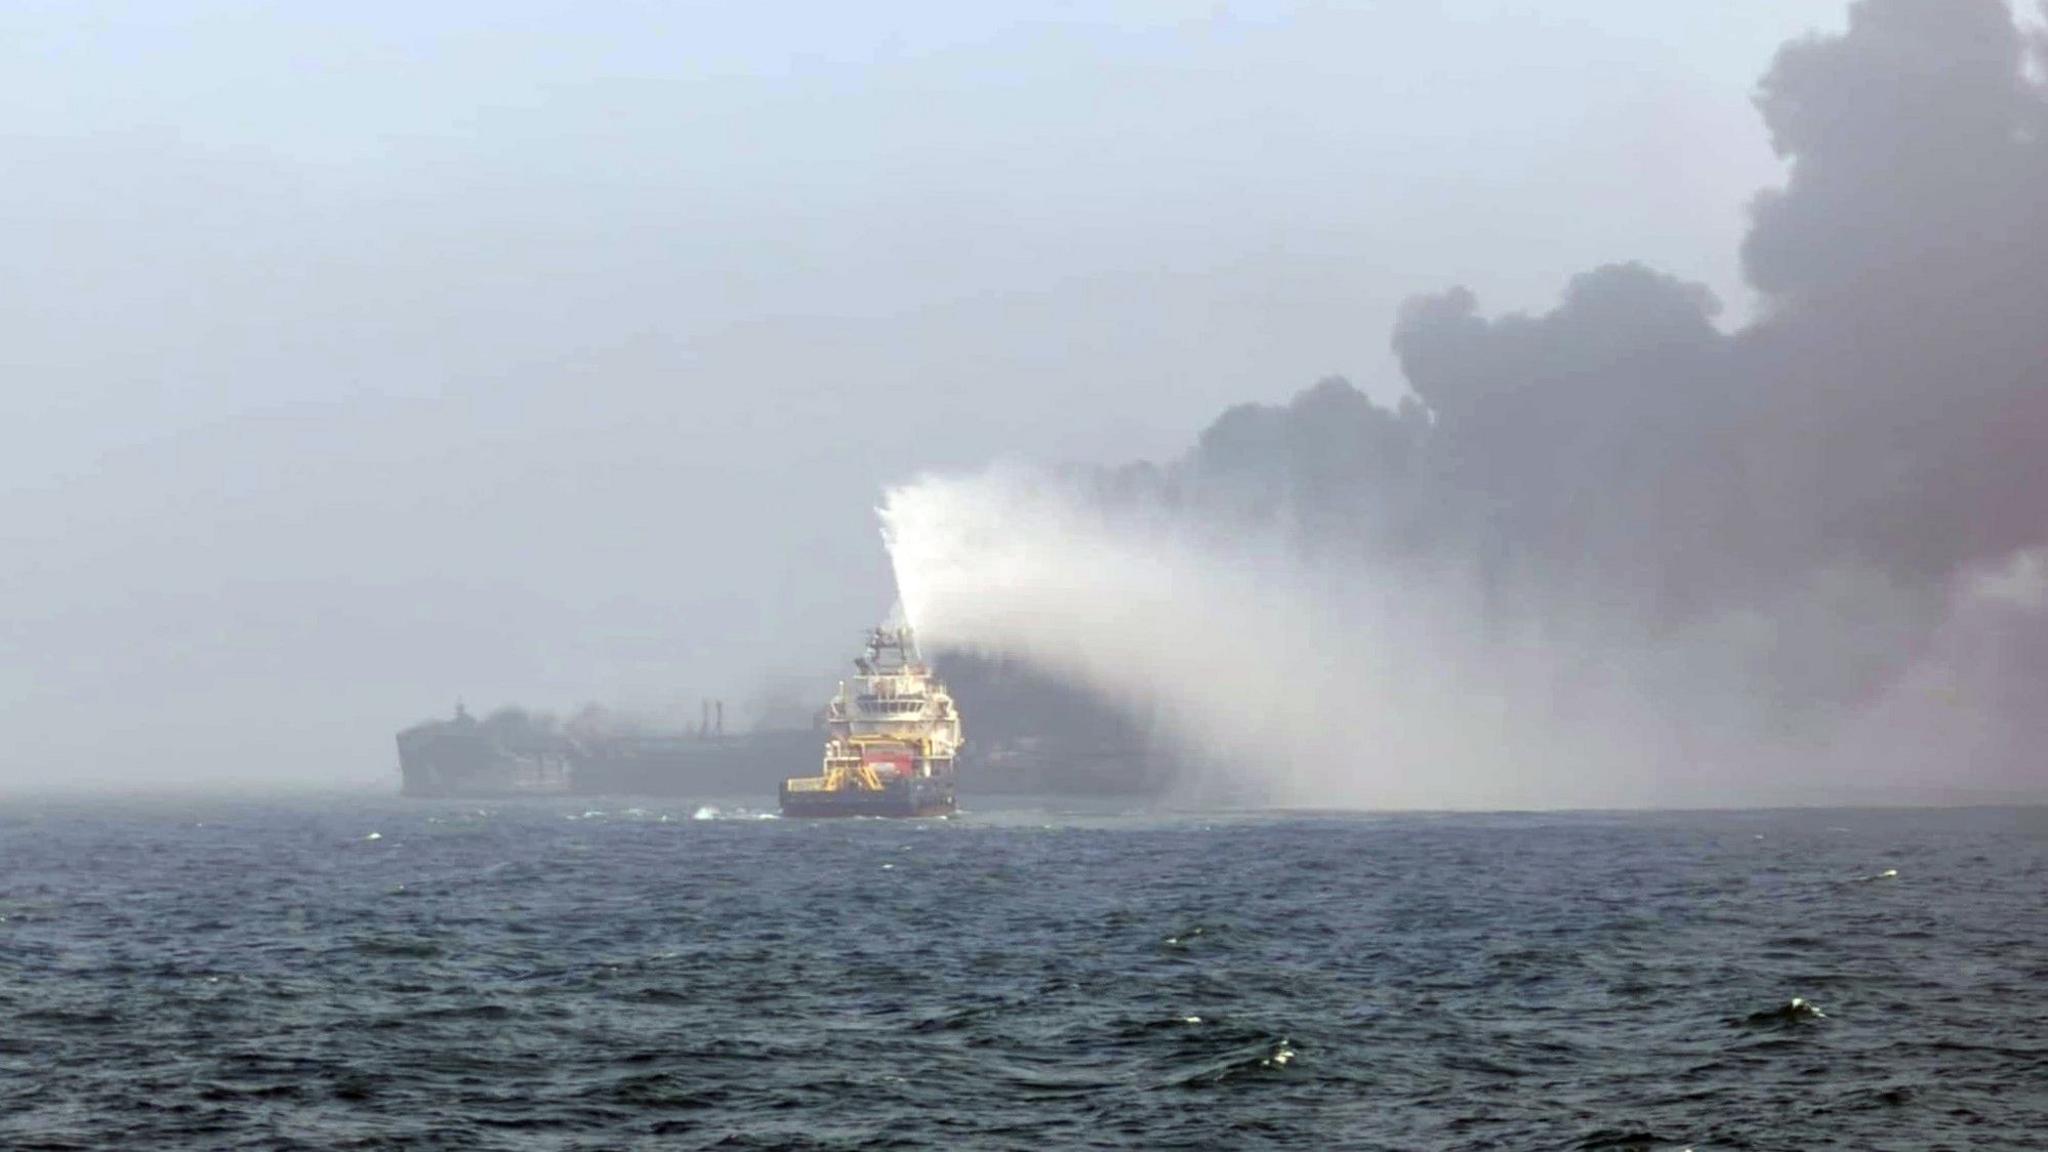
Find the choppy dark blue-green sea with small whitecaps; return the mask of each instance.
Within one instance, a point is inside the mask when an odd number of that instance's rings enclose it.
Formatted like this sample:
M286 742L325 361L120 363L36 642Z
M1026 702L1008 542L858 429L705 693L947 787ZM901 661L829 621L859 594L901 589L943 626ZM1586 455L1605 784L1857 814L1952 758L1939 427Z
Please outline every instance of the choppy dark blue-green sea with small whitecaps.
M2048 810L0 801L0 1148L2048 1148Z

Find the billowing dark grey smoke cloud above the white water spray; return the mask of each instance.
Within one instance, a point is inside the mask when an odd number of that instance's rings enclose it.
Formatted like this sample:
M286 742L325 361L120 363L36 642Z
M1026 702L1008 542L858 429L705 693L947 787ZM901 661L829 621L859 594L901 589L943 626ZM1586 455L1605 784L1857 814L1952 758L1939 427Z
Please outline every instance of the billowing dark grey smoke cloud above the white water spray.
M1751 205L1747 326L1636 262L1540 316L1444 291L1395 326L1403 404L1323 381L1110 490L1454 562L1503 617L1749 621L1743 687L1780 719L1925 681L1911 699L2048 736L2044 66L1997 0L1853 4L1757 88L1788 176Z

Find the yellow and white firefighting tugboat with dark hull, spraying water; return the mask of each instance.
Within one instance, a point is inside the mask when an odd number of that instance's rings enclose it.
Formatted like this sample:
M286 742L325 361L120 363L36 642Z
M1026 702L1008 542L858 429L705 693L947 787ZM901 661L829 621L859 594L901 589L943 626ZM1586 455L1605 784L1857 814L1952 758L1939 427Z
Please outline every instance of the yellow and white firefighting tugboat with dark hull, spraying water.
M825 709L825 763L782 781L782 816L950 816L961 711L907 627L877 627Z

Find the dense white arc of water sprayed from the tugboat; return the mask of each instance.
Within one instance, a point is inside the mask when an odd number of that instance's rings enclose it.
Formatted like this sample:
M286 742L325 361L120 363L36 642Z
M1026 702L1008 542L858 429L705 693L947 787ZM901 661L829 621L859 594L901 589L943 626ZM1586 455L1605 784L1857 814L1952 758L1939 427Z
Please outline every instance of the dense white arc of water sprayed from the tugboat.
M1444 576L1360 574L999 467L895 488L897 590L938 648L1149 705L1196 785L1280 806L1669 801L1688 740L1626 676L1536 635L1479 640Z

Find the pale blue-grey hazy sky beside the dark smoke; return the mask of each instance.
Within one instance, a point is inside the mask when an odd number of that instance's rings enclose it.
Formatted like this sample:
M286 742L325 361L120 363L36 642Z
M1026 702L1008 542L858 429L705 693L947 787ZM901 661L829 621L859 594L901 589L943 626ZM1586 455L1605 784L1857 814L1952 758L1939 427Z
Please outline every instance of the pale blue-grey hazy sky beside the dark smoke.
M0 787L836 674L885 482L1182 451L1401 299L1735 316L1837 0L10 4Z

